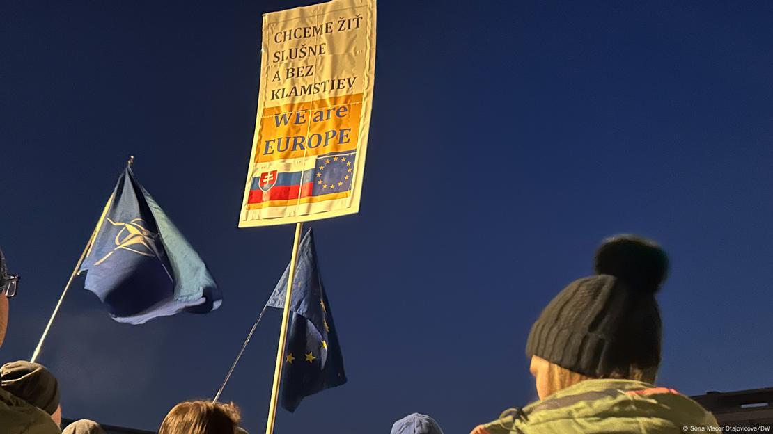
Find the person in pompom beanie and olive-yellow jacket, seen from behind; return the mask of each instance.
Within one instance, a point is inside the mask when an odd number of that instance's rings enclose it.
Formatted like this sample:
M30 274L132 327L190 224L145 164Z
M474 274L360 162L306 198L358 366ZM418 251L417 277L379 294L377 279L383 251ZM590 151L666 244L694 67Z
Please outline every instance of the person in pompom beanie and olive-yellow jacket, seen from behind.
M668 263L649 239L605 240L596 275L570 283L532 326L526 355L540 401L471 434L721 432L698 403L652 384L661 361L655 295Z

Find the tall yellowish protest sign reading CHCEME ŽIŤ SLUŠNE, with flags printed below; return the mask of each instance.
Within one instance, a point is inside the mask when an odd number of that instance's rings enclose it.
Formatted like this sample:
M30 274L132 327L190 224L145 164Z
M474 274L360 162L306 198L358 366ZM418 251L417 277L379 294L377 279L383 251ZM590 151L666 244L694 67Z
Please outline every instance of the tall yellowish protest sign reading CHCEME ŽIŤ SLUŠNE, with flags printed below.
M375 59L375 0L263 15L261 90L239 227L359 211Z

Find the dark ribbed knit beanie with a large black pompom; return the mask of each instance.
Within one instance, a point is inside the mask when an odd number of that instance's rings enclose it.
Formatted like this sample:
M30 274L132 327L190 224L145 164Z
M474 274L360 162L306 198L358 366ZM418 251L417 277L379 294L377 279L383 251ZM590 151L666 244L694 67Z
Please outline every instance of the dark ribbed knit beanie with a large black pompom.
M550 301L532 326L526 354L593 378L658 368L655 294L668 263L666 252L649 239L604 240L596 252L597 274L575 280Z

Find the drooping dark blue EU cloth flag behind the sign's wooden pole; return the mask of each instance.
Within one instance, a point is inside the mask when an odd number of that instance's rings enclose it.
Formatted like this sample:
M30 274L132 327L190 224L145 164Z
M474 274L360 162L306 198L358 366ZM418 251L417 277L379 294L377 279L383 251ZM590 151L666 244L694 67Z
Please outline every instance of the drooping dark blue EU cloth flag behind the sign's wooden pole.
M284 270L268 306L284 308L288 273ZM301 399L346 383L333 314L322 286L311 229L298 246L288 344L282 367L282 407L295 412Z

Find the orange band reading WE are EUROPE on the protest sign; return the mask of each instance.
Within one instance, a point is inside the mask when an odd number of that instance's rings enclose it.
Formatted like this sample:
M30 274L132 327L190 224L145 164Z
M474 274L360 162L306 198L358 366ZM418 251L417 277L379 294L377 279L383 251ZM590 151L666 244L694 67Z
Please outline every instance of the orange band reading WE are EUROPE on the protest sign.
M363 94L267 107L253 161L287 160L357 148Z

